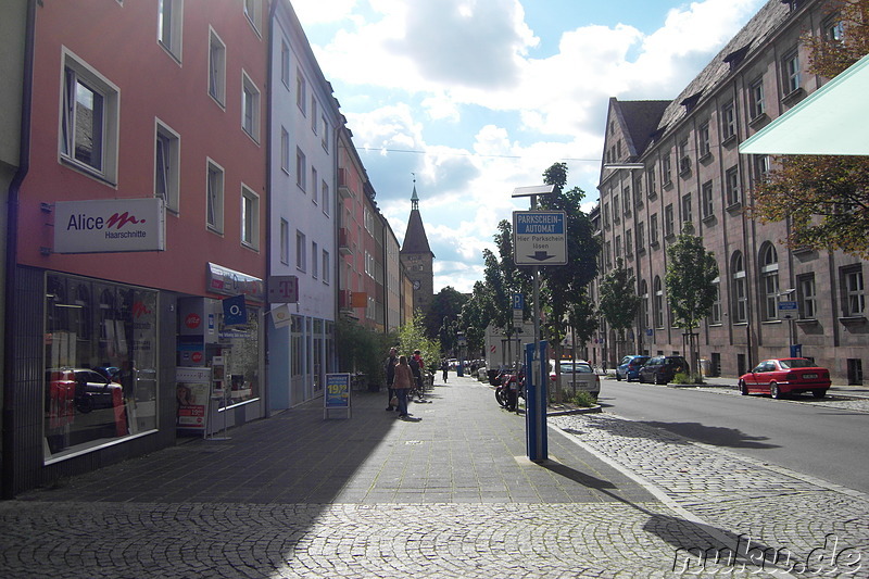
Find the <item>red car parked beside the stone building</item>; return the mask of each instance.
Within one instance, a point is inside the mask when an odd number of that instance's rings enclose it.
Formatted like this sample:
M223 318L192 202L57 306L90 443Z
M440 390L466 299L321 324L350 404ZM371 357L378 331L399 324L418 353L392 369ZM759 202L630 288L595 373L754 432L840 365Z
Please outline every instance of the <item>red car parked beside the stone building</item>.
M795 392L811 392L815 398L823 398L829 388L830 370L805 357L765 360L740 377L743 395L769 394L780 399Z

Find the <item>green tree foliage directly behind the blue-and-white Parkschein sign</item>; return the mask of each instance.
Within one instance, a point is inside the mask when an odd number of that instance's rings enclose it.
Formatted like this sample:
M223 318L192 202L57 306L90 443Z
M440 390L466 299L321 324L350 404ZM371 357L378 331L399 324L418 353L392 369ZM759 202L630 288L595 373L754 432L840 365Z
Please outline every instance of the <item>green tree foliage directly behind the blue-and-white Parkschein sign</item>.
M540 209L564 211L566 216L567 265L544 266L540 270L541 310L546 314L542 327L553 357L561 360L562 341L567 336L570 318L584 327L589 320L580 316L593 317L588 307L577 306L587 295L585 287L597 275L600 241L594 236L591 219L581 209L585 192L579 187L565 189L567 164L552 164L543 172L543 182L554 185L555 190L552 194L541 196Z

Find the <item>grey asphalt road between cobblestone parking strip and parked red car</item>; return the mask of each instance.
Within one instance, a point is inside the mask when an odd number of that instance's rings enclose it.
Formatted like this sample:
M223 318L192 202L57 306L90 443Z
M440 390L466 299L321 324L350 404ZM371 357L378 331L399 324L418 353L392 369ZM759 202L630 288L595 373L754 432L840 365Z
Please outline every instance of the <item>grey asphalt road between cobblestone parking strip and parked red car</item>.
M869 414L769 397L602 380L604 412L869 492Z

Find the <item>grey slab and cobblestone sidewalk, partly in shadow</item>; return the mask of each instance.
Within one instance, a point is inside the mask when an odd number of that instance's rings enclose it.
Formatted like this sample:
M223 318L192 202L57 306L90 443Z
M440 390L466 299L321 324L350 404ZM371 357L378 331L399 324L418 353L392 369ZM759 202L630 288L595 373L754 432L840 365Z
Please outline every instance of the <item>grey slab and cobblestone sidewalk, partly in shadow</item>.
M869 577L861 493L608 414L551 417L552 461L536 465L522 418L469 378L413 405L419 423L383 400L360 395L351 420L291 411L231 430L225 450L194 441L2 502L0 576ZM352 468L327 468L336 441ZM780 550L778 568L758 546Z

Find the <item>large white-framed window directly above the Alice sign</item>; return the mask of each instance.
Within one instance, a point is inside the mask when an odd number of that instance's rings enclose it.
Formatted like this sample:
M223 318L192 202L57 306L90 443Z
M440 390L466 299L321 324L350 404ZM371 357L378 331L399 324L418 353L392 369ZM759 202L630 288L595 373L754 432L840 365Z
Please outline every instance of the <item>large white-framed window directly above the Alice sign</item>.
M64 54L61 158L114 182L117 127L117 87L72 54Z

